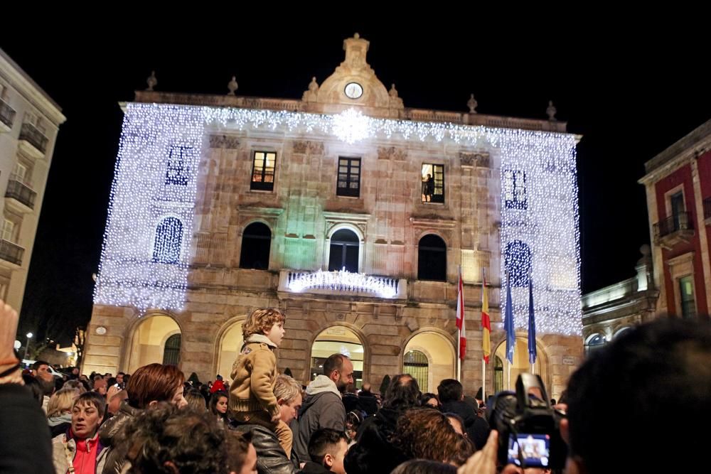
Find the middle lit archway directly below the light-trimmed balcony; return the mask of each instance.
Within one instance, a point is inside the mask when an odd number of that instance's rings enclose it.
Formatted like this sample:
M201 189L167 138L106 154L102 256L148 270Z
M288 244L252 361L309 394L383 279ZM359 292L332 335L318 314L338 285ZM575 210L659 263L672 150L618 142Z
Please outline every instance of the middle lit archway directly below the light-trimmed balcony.
M324 373L324 362L331 354L343 354L353 362L353 381L355 387L363 385L363 360L365 352L363 343L355 332L346 326L331 326L316 336L311 346L311 372L309 379Z

